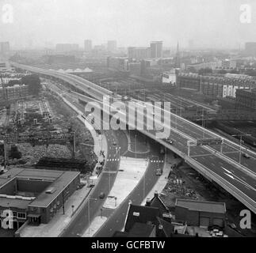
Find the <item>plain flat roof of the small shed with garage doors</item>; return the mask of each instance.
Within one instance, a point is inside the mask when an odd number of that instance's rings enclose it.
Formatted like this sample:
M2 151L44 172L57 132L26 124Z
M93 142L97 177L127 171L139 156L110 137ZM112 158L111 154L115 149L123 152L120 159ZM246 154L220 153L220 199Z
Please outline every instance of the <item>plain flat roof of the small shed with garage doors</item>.
M226 213L226 205L224 202L208 202L178 198L175 206L208 213Z

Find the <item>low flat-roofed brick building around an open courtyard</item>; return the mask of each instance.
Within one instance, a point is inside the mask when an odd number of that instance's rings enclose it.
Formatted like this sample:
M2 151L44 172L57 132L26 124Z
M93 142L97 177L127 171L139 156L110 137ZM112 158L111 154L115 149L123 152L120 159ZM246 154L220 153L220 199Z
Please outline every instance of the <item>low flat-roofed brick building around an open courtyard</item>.
M0 176L1 227L6 210L13 212L13 228L48 223L77 189L80 172L12 168ZM64 210L64 207L63 207Z

